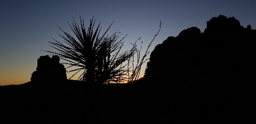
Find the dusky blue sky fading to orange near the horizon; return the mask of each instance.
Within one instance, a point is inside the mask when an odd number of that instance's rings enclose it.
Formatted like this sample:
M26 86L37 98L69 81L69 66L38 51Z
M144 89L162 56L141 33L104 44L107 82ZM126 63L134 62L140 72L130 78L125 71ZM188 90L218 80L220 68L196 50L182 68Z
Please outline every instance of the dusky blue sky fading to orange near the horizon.
M0 85L23 84L30 81L36 70L37 59L53 51L53 39L64 40L58 35L58 28L72 34L68 23L85 20L88 27L90 19L101 22L102 30L114 21L109 34L122 31L124 49L130 42L143 41L142 52L154 39L149 51L169 36L190 27L198 27L201 32L206 22L218 15L235 17L244 27L251 25L256 29L256 1L0 1ZM73 35L73 34L72 34ZM149 56L148 56L149 57ZM145 71L142 67L141 76ZM67 74L68 78L71 74ZM75 80L75 79L73 79Z

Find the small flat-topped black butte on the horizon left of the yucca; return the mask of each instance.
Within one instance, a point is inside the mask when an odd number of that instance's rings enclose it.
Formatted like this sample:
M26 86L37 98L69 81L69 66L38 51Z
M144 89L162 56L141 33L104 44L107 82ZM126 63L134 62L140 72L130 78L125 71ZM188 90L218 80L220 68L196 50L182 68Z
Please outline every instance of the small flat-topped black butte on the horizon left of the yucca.
M37 59L36 71L32 73L32 82L42 81L65 81L66 69L64 65L59 63L60 58L57 55L53 55L52 58L48 55L40 56Z

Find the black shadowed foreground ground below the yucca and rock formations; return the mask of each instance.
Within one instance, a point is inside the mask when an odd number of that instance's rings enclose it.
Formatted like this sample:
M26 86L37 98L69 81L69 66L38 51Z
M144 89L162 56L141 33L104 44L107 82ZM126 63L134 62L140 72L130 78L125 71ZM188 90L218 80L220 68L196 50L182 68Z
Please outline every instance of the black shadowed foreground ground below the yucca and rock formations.
M0 86L0 123L245 123L255 115L253 88L161 87L143 80Z

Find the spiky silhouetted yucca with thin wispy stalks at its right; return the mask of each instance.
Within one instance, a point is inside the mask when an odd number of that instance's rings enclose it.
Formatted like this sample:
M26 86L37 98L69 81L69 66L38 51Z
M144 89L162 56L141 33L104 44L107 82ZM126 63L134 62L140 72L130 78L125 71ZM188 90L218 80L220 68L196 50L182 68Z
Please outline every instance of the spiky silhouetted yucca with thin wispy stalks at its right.
M147 50L154 39L151 41L142 59L140 58L141 48L138 50L136 45L136 42L139 39L132 44L133 46L130 50L121 53L120 51L124 45L123 39L127 35L120 40L118 40L120 37L120 32L118 31L113 35L106 35L111 25L100 37L100 24L95 29L95 20L93 20L93 18L90 20L90 25L87 30L84 25L84 20L82 21L80 18L80 26L74 20L70 27L76 37L72 37L59 27L64 33L64 36L59 35L68 45L64 45L63 43L53 39L56 42L49 42L52 44L50 46L58 50L58 52L46 52L57 54L60 58L66 60L67 62L64 64L69 65L67 68L78 67L68 71L75 72L70 79L74 75L78 74L78 72L82 72L82 74L79 75L78 80L96 82L100 84L136 81L139 78L142 64L147 60L145 59L146 55L149 54ZM134 66L134 55L136 54L137 65ZM125 63L125 61L128 63ZM132 66L130 63L132 63Z

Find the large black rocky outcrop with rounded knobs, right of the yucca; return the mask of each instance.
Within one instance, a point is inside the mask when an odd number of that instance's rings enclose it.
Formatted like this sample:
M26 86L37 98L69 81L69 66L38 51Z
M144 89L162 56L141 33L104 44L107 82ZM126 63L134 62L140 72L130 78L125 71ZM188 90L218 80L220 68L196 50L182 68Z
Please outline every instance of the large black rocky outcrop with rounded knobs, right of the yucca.
M224 15L183 30L158 44L150 56L145 79L167 84L253 82L256 30ZM205 83L206 84L206 83Z

